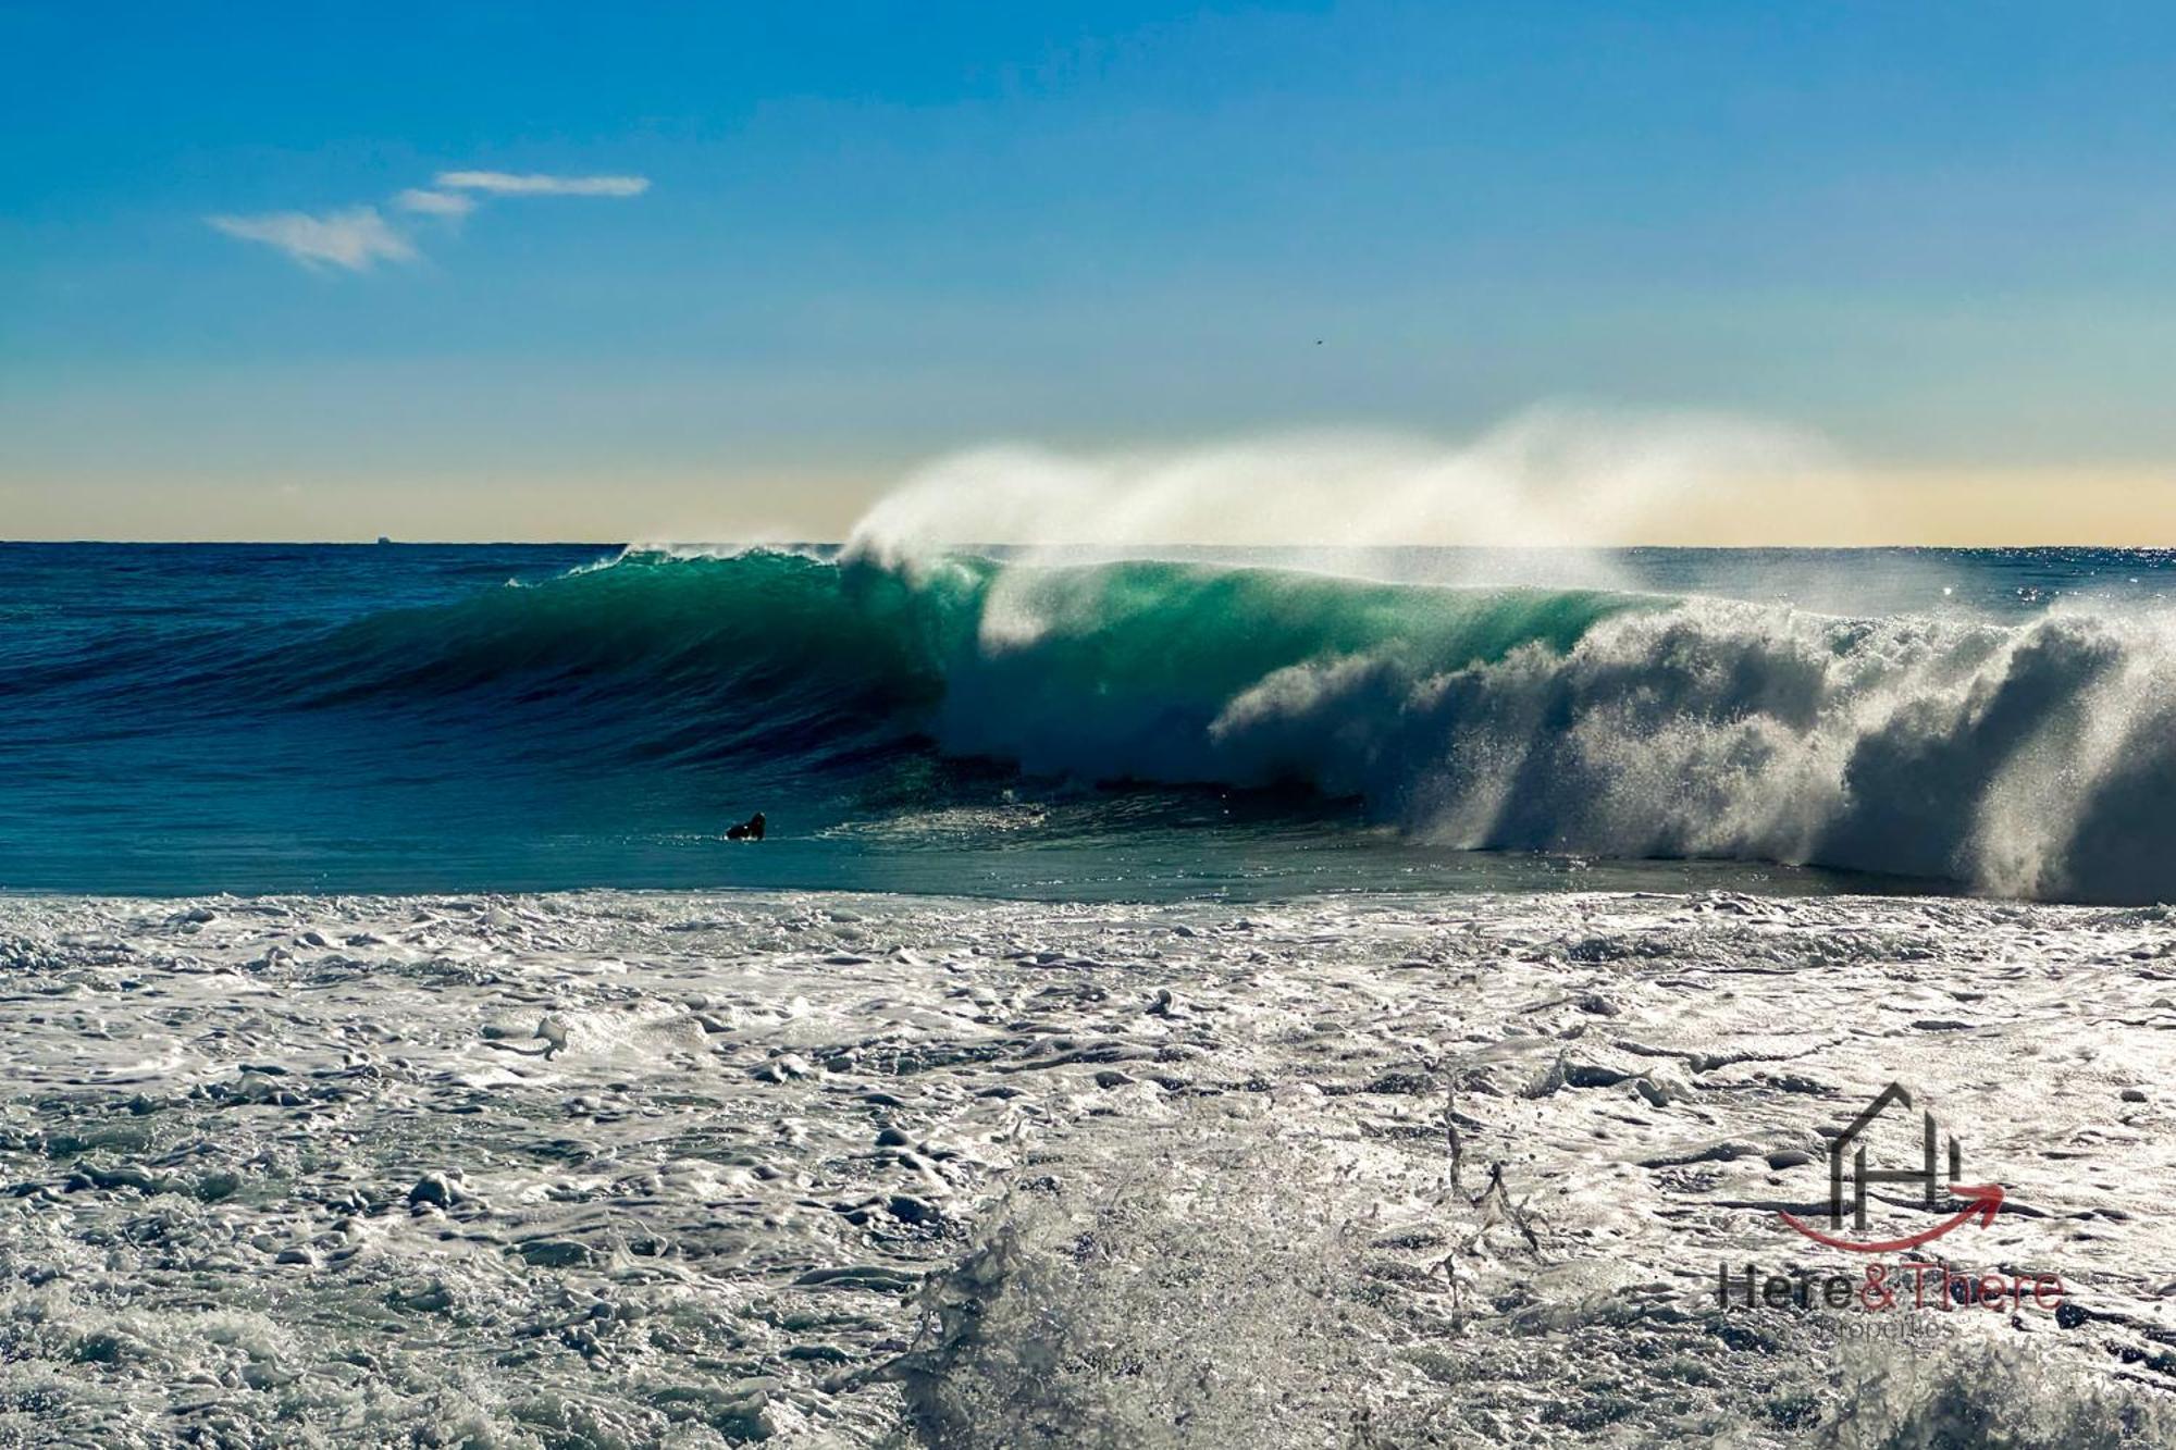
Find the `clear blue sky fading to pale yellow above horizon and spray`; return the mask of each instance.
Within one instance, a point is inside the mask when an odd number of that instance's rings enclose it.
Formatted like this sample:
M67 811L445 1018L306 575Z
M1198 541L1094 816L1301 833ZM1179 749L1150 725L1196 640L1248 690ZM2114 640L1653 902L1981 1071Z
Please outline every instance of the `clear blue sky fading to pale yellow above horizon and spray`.
M0 536L836 533L1551 401L2176 490L2163 7L0 4Z

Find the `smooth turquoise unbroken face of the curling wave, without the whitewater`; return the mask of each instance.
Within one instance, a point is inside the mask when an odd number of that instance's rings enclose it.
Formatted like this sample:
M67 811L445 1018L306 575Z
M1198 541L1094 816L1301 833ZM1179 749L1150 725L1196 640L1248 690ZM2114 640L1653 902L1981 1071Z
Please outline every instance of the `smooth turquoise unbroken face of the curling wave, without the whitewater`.
M239 640L170 662L161 688L244 716L518 725L524 751L588 764L742 758L790 775L927 742L1088 779L1219 784L1206 732L1277 671L1371 658L1427 673L1565 651L1625 607L1636 601L1166 562L964 555L881 570L633 553L298 640Z

